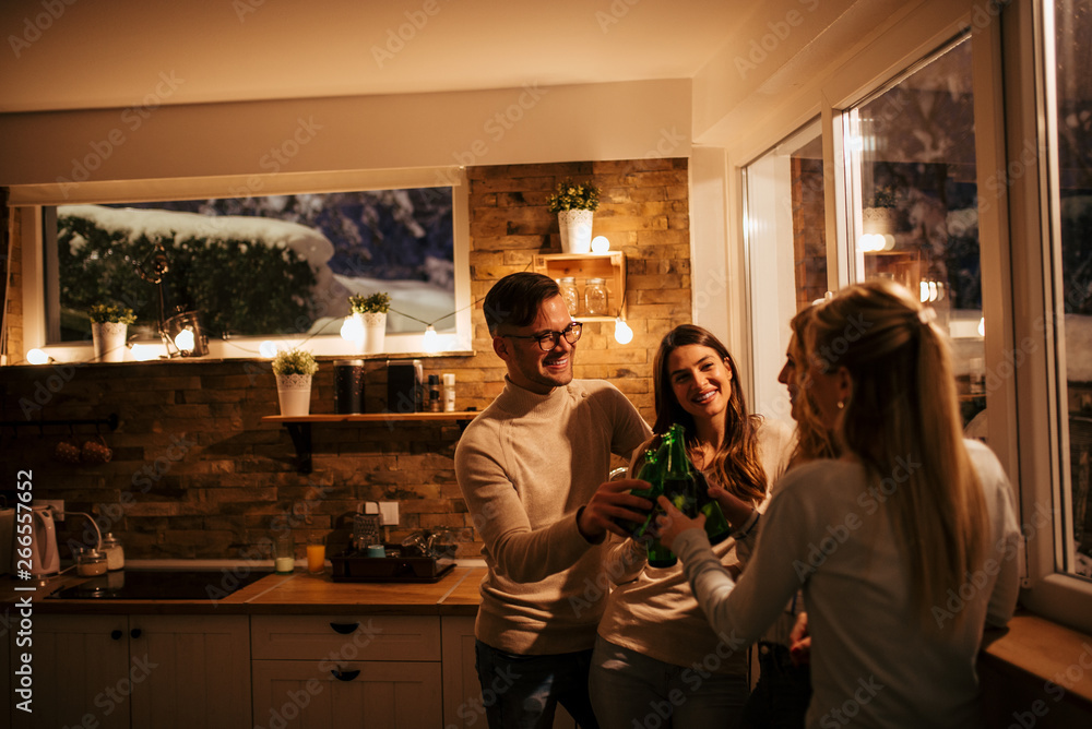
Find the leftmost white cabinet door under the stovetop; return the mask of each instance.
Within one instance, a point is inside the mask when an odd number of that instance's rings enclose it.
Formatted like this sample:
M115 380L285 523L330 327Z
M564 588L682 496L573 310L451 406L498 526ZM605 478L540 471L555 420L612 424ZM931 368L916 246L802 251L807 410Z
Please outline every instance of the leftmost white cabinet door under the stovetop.
M12 706L12 726L129 729L129 635L124 616L34 616L32 714Z

